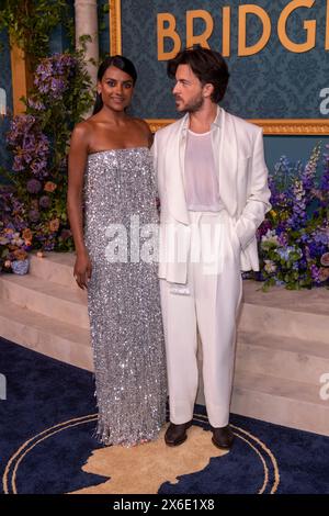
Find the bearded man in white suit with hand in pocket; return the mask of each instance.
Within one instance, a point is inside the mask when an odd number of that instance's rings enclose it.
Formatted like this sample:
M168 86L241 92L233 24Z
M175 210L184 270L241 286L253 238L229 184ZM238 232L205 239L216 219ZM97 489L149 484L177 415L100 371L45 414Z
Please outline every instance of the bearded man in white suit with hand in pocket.
M219 108L229 78L219 53L182 51L168 75L185 115L158 131L152 148L170 403L164 440L181 445L192 424L198 332L212 439L229 449L240 270L259 270L256 232L270 209L262 130Z

